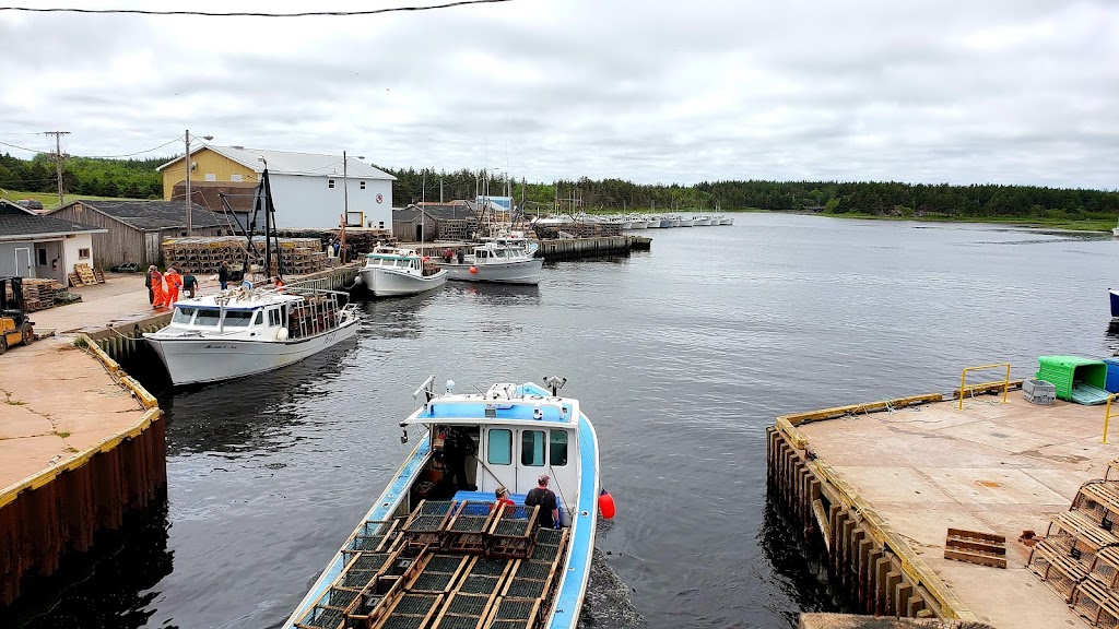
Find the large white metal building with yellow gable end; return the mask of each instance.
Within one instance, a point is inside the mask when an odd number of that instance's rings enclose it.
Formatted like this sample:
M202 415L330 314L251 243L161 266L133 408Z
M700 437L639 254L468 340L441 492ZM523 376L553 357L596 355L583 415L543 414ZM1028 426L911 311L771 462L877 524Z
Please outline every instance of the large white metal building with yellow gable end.
M392 175L357 158L203 144L190 151L194 181L258 181L265 165L280 228L348 226L393 228ZM164 198L184 180L184 159L171 160L163 173ZM348 193L348 199L347 194ZM180 197L181 199L181 197ZM263 224L263 217L260 218Z

